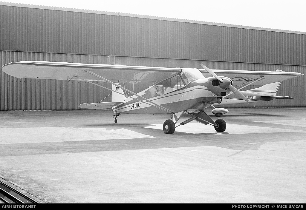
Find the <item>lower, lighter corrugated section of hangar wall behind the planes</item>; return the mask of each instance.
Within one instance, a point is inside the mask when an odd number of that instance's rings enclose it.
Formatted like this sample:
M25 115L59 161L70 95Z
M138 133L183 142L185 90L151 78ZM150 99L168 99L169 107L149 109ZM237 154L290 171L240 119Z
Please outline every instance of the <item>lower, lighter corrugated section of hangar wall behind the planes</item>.
M234 63L220 61L198 61L162 58L140 58L122 56L76 55L60 53L32 53L0 51L0 66L23 60L45 60L74 63L101 63L157 67L189 67L201 68L204 63L211 69L235 69L258 71L294 71L303 73L306 66L276 65L258 63ZM109 83L101 82L111 88ZM256 103L256 107L301 107L306 106L304 87L305 77L293 78L282 82L278 96L292 96L294 100L272 100ZM147 85L135 85L135 92L140 92ZM249 89L257 86L250 86ZM132 84L126 85L132 90ZM76 110L81 103L94 103L104 99L110 101L110 91L91 85L84 81L18 79L0 72L0 110ZM253 103L230 107L254 107Z

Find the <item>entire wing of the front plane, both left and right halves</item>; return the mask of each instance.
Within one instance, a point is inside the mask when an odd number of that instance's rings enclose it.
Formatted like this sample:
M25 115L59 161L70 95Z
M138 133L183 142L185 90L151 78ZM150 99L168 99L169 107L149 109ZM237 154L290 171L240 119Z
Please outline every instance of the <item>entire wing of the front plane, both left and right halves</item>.
M84 64L48 61L20 61L6 64L2 71L17 78L40 78L60 80L88 80L104 81L89 74L100 75L113 82L154 84L170 78L181 72L181 68L122 66L107 64ZM211 77L204 69L199 69L205 77ZM233 80L233 85L247 86L265 85L298 77L303 74L297 72L278 71L243 71L243 70L212 70L219 76L226 76Z

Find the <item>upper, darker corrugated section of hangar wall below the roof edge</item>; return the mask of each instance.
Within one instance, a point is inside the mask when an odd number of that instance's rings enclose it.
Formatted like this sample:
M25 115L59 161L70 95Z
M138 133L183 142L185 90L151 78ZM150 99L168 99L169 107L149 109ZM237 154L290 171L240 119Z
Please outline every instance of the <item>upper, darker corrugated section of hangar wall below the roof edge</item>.
M0 5L0 50L306 65L306 34Z

